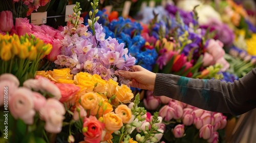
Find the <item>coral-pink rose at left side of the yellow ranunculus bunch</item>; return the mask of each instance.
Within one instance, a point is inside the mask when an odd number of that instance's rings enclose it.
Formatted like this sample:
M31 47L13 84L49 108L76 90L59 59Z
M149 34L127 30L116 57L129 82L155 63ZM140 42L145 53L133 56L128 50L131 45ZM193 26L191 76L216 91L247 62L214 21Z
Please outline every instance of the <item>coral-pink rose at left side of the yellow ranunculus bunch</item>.
M75 84L67 84L67 83L56 83L55 84L61 93L61 99L59 100L61 103L67 103L68 106L75 105L75 102L78 100L76 93L80 91L80 87Z

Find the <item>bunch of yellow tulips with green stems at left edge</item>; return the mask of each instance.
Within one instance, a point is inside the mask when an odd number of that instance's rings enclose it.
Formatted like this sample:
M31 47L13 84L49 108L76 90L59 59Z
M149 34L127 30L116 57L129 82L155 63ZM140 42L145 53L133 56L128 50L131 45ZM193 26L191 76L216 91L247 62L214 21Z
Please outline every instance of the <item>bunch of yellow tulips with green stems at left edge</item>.
M0 74L11 73L21 84L28 78L34 78L39 61L52 50L51 44L25 34L0 34Z

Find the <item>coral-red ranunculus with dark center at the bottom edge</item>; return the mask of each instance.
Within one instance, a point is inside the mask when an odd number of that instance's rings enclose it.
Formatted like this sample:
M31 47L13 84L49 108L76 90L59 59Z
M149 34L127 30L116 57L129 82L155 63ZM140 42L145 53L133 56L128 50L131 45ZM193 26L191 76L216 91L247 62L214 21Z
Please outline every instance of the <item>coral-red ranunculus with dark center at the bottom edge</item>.
M86 142L100 142L101 137L103 136L103 131L105 125L97 120L95 116L89 116L84 118L83 127L87 127L87 132L84 132L83 135L84 141Z

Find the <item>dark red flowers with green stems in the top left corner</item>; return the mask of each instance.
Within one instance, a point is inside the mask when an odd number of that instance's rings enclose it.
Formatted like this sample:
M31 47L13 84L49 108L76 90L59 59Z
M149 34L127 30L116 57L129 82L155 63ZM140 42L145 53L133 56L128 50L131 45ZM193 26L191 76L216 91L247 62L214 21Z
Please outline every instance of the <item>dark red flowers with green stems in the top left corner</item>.
M11 10L14 17L27 17L39 7L46 6L50 0L12 0L1 1L1 11ZM26 15L24 13L26 12Z

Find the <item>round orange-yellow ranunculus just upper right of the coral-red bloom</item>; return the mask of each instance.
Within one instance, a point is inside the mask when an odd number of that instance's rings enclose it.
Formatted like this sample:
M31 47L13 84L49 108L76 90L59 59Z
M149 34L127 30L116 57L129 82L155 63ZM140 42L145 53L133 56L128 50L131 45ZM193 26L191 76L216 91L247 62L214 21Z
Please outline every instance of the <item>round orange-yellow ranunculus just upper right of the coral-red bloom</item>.
M104 114L103 122L108 131L118 131L123 126L122 118L113 112Z

